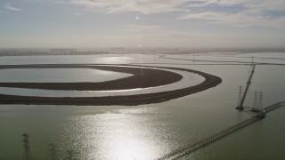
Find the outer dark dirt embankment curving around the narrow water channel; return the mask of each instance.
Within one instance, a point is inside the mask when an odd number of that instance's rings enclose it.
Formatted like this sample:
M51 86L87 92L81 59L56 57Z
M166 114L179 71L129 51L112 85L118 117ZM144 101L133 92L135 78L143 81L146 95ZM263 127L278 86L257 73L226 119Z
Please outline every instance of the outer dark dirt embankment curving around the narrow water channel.
M23 66L34 66L37 68L38 65L15 65L15 67L23 67ZM42 65L43 66L43 65ZM51 65L45 65L50 68ZM67 65L52 65L54 68L66 67ZM139 67L128 65L129 67ZM1 66L0 68L7 68L9 66ZM70 68L82 68L85 65L69 65ZM118 66L119 67L119 66ZM164 67L156 67L156 68L164 68ZM109 68L108 70L118 71L116 68ZM132 70L133 68L127 68ZM196 92L202 92L209 88L215 87L218 84L222 83L222 79L218 76L213 76L204 72L200 72L197 70L191 70L186 68L168 68L175 70L183 70L188 71L194 74L198 74L199 76L205 77L205 81L201 84L177 89L173 91L167 92L155 92L155 93L145 93L145 94L137 94L137 95L122 95L122 96L107 96L107 97L74 97L74 98L53 98L53 97L33 97L33 96L17 96L17 95L4 95L0 94L0 104L25 104L25 105L76 105L76 106L111 106L111 105L123 105L123 106L136 106L143 104L151 104L151 103L159 103L167 100L177 99L186 95L190 95ZM159 72L156 70L155 72ZM171 75L171 74L170 74ZM160 79L168 79L170 75L164 75L160 77ZM128 78L125 79L126 84L134 83ZM152 79L150 82L154 84L158 84L159 80ZM175 81L173 81L175 82Z

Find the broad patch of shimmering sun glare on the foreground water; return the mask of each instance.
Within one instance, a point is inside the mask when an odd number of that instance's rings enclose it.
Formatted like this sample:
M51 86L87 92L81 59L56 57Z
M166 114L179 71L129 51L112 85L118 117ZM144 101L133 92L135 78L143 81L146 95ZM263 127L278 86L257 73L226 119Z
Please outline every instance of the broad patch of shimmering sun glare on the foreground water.
M77 139L73 143L81 158L154 159L163 152L146 116L107 113L77 116L73 121L71 139Z

